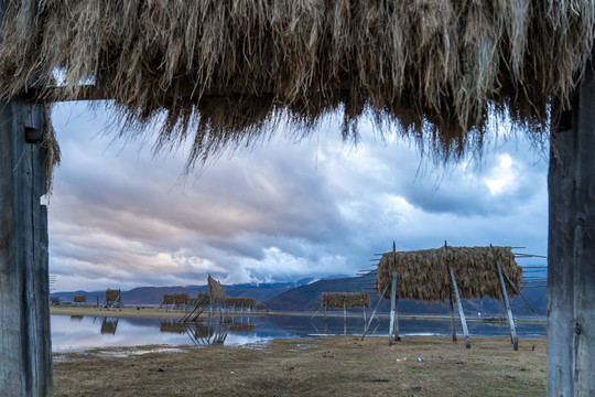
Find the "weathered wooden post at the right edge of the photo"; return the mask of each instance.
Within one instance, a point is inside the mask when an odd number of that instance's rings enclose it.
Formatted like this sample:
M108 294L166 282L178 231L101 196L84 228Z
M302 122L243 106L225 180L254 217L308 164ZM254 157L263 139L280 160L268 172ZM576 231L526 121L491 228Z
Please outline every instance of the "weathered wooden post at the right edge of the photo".
M548 395L595 396L595 74L552 122ZM556 116L554 114L554 116Z

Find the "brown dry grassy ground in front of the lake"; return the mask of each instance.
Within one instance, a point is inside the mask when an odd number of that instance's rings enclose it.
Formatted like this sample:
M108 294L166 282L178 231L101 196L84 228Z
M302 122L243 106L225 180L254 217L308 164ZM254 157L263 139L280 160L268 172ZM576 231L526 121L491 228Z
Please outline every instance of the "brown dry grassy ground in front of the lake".
M275 340L54 354L51 396L540 396L545 339Z

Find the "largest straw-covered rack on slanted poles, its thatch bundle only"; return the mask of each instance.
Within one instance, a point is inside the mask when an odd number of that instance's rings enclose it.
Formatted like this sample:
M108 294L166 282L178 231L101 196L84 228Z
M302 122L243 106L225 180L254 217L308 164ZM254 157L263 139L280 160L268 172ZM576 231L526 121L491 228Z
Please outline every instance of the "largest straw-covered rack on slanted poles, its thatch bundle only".
M520 289L522 268L510 247L442 247L415 251L383 254L378 264L376 289L381 294L397 271L397 298L444 302L454 293L448 270L453 270L462 299L490 297L499 299L501 286L496 261L502 273ZM516 293L507 286L507 293Z

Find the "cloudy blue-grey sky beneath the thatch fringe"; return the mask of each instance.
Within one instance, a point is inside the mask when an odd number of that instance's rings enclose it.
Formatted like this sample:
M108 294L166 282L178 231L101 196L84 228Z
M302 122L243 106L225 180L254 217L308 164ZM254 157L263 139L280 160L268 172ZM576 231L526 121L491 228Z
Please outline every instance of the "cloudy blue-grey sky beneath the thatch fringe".
M187 151L154 158L150 139L113 141L100 108L57 105L52 120L55 291L353 276L393 240L547 254L547 154L522 135L500 131L482 161L436 168L366 121L359 144L344 143L329 120L298 144L280 133L184 176Z

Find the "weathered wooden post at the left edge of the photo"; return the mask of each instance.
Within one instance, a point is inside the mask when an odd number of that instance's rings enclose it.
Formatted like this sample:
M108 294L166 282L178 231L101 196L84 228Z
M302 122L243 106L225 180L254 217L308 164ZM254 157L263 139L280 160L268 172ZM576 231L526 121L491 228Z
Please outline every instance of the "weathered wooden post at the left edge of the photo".
M52 387L44 107L0 104L0 396Z

